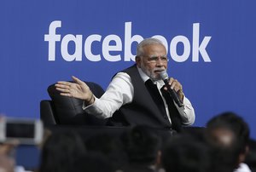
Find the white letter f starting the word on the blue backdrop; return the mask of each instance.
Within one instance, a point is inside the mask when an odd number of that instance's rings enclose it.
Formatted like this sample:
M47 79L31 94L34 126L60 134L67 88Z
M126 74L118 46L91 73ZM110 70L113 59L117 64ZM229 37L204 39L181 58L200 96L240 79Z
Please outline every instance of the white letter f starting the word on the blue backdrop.
M49 49L48 49L48 60L54 61L55 60L55 42L61 41L61 35L56 35L56 28L61 27L61 20L52 21L49 24L49 35L44 35L44 41L49 42Z

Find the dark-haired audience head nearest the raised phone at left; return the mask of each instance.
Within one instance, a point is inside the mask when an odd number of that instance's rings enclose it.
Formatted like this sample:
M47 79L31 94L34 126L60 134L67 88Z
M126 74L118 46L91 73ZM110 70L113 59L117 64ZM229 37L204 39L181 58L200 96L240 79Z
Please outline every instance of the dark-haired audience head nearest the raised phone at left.
M72 172L73 163L84 153L84 142L79 134L56 132L44 143L39 172Z

